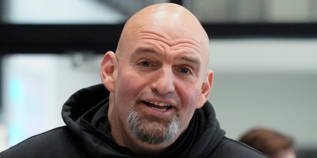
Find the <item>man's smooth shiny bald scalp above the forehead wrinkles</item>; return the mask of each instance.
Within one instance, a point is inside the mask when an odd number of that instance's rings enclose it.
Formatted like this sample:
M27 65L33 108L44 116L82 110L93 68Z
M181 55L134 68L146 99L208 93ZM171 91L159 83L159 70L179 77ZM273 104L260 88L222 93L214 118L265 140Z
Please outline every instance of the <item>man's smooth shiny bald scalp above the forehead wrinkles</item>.
M150 32L167 33L162 37L170 46L177 39L187 38L197 42L202 56L209 59L209 39L198 19L186 8L174 3L159 3L143 8L134 14L125 24L118 42L116 56L131 49L128 42L134 39L135 33L148 27ZM208 66L208 61L206 63Z

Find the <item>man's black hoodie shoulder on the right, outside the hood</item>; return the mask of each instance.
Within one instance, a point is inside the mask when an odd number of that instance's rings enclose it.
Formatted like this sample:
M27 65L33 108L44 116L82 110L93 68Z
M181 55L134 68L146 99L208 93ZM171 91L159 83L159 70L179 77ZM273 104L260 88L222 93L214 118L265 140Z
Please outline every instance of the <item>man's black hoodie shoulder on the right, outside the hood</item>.
M215 158L269 158L265 154L227 137L223 137L212 156Z

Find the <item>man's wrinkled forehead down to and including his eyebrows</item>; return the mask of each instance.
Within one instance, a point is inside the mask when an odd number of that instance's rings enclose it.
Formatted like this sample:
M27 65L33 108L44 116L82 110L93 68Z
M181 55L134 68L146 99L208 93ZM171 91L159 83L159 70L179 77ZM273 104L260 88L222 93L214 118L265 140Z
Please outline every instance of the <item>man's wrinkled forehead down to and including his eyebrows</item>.
M166 60L181 60L196 67L208 66L208 50L197 36L186 30L159 26L140 26L131 29L124 56L156 55ZM131 57L132 57L131 56Z

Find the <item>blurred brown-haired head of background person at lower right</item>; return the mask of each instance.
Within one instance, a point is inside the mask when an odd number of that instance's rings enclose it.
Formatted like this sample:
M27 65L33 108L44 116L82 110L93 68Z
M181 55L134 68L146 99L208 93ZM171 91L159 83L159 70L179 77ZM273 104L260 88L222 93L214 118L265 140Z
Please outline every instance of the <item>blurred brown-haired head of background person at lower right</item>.
M293 140L271 129L254 128L244 134L240 142L271 158L296 158Z

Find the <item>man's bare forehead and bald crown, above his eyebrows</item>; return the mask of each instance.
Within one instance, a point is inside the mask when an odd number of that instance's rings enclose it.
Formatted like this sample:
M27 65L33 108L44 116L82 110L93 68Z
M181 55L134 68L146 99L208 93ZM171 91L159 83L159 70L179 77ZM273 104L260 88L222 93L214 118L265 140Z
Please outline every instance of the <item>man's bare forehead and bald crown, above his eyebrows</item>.
M187 11L141 11L128 20L121 37L120 49L124 51L120 53L152 45L161 52L194 53L202 61L206 60L203 63L208 63L208 36L199 21Z

